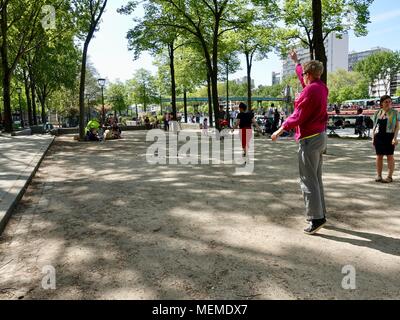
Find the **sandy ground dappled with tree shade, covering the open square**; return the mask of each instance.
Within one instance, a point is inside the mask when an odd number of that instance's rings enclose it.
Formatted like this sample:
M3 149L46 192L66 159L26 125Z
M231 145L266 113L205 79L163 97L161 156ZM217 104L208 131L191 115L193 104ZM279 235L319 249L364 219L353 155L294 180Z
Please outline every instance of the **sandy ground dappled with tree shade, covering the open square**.
M329 140L317 236L302 233L295 142L256 139L247 176L149 165L148 145L57 139L0 238L1 299L400 298L400 177L374 182L370 142Z

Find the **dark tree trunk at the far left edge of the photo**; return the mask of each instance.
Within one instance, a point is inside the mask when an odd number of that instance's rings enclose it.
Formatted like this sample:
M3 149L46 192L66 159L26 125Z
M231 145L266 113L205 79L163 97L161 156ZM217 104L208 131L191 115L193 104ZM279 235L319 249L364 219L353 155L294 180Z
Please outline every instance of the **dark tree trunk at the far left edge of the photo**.
M1 8L1 67L3 69L3 103L4 103L4 129L6 132L13 131L11 114L10 82L11 73L8 67L8 44L7 44L7 4Z

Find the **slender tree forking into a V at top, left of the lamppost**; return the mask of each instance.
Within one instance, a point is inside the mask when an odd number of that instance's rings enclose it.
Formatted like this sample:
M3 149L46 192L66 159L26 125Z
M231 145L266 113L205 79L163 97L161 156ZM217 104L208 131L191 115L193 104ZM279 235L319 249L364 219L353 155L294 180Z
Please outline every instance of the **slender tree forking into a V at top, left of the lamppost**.
M79 86L79 136L85 136L85 77L86 62L90 41L98 30L101 17L107 5L107 0L72 0L77 17L80 39L84 40L81 61L81 77ZM102 122L104 123L104 117Z

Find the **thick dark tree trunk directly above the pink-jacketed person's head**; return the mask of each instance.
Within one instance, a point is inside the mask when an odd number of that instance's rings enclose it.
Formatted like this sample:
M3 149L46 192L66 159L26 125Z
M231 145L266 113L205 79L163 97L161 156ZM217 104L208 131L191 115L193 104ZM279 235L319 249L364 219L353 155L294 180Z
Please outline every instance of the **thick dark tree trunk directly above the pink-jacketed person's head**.
M328 78L327 58L325 54L324 36L322 33L322 3L321 0L312 0L313 11L313 30L314 30L314 48L315 59L324 65L324 73L321 80L326 84Z

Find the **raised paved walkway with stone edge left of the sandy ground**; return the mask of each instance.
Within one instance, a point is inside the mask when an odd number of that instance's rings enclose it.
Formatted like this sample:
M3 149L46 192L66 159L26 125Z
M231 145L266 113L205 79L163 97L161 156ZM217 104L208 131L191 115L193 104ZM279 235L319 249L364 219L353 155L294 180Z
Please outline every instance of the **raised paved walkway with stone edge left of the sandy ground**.
M0 234L54 137L0 135Z

